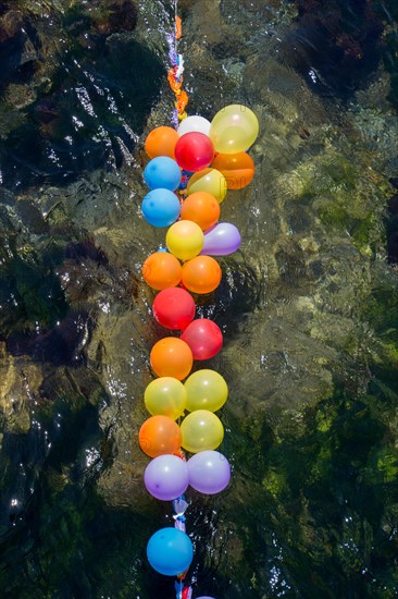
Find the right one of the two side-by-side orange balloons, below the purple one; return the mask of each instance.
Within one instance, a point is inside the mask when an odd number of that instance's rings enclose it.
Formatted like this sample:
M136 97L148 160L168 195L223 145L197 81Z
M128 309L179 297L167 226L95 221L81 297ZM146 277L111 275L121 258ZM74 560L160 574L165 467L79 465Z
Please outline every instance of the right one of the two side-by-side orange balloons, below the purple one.
M183 266L183 284L192 293L211 293L222 277L220 265L210 256L197 256Z

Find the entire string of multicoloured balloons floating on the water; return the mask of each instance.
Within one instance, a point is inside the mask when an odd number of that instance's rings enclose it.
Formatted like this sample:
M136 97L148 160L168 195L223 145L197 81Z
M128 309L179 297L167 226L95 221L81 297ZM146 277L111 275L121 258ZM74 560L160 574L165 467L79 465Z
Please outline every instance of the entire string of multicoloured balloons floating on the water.
M214 414L227 400L227 384L208 368L190 374L194 360L220 352L223 335L212 320L195 319L195 301L188 292L214 291L222 271L212 256L232 254L240 246L237 228L219 223L220 205L227 188L241 188L252 180L253 161L245 150L258 131L254 113L232 105L211 123L202 117L188 117L177 131L160 126L146 139L150 161L144 179L150 192L141 212L153 227L169 230L166 249L160 248L145 260L142 277L159 291L152 304L157 321L181 331L181 337L158 341L150 352L151 368L159 378L145 391L151 416L138 435L141 450L152 459L145 470L145 486L163 501L183 496L188 486L214 494L229 482L229 463L215 451L224 428ZM179 426L176 420L186 411L189 414ZM181 448L192 456L185 460ZM184 530L162 528L149 539L147 557L157 572L181 575L192 560L192 543Z

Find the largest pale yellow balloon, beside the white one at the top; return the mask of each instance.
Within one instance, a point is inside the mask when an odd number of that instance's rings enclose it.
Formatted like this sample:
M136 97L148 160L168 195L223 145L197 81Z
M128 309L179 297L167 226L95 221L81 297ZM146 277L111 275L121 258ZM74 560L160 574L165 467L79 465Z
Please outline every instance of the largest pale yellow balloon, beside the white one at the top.
M209 135L215 151L237 154L247 150L258 134L259 121L254 112L246 106L231 105L215 114Z

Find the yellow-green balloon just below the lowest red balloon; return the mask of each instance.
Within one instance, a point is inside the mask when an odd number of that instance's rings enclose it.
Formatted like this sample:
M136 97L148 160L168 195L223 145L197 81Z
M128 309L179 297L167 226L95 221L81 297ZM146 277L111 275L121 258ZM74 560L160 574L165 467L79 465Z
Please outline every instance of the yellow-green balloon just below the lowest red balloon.
M203 368L190 375L184 383L187 392L186 408L216 412L228 396L228 387L219 372Z

